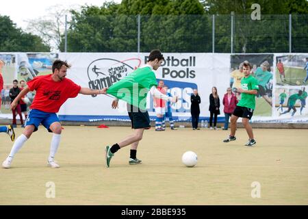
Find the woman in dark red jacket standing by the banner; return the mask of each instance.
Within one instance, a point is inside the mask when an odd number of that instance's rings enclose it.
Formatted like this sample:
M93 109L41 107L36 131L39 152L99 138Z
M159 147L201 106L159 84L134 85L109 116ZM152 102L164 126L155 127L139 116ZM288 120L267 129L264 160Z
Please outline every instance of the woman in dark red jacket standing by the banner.
M222 104L224 105L224 130L228 130L229 118L238 104L238 99L233 94L231 88L227 88L227 93L224 94Z

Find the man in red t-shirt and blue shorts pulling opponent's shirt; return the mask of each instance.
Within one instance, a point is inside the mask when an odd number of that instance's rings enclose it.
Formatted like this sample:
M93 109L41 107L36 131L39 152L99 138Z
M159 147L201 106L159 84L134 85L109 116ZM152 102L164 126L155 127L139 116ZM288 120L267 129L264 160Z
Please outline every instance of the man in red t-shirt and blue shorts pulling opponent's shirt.
M20 101L27 92L36 90L36 96L30 106L31 110L29 110L25 129L21 136L14 142L8 158L2 163L3 168L10 168L14 155L30 138L31 134L38 130L40 123L42 123L49 132L53 133L48 164L53 168L60 167L54 160L55 153L60 144L62 131L60 120L57 118L56 113L59 112L60 107L68 98L74 98L78 94L105 94L107 90L107 88L103 88L103 90L81 88L81 86L78 86L76 83L66 78L67 68L70 68L70 64L61 60L55 60L52 66L52 75L37 76L31 81L28 81L27 88L24 88L12 102L11 108L14 109L18 101Z

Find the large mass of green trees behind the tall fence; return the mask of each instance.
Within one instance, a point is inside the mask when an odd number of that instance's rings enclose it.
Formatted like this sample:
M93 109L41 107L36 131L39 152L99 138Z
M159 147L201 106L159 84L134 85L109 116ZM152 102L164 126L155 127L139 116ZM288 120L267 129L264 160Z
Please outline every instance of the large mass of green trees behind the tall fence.
M261 21L251 20L251 5L261 5ZM308 51L306 0L123 0L101 7L72 11L68 30L69 52L136 52L138 15L140 51L212 51L212 14L215 14L215 52L272 53L289 51L289 17L292 16L292 51ZM284 15L273 15L284 14ZM64 40L61 50L64 51Z

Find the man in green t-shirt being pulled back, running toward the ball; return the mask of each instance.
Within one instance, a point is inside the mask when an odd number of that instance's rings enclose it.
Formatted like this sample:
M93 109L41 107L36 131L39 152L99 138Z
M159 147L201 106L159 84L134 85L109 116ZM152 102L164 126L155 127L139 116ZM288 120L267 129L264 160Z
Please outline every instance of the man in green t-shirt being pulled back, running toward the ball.
M118 107L118 99L127 102L127 112L131 119L131 127L134 129L133 134L127 136L124 140L112 146L106 146L105 160L107 167L110 166L110 160L114 156L114 153L129 144L131 144L129 164L141 163L141 160L137 159L136 154L138 143L142 140L144 129L151 127L149 113L146 111L146 96L149 91L158 99L177 103L177 96L166 96L156 88L157 81L153 70L157 70L163 61L164 56L158 49L155 49L151 51L147 64L134 70L107 89L107 94L112 94L116 97L112 101L113 109Z

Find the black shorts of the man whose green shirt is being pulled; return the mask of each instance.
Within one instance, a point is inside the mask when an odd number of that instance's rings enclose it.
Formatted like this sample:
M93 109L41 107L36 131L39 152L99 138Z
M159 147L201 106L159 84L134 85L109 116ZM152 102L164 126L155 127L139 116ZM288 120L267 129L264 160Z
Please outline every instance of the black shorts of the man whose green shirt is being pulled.
M127 112L131 119L132 129L150 129L151 121L147 111L141 111L138 107L127 104Z

